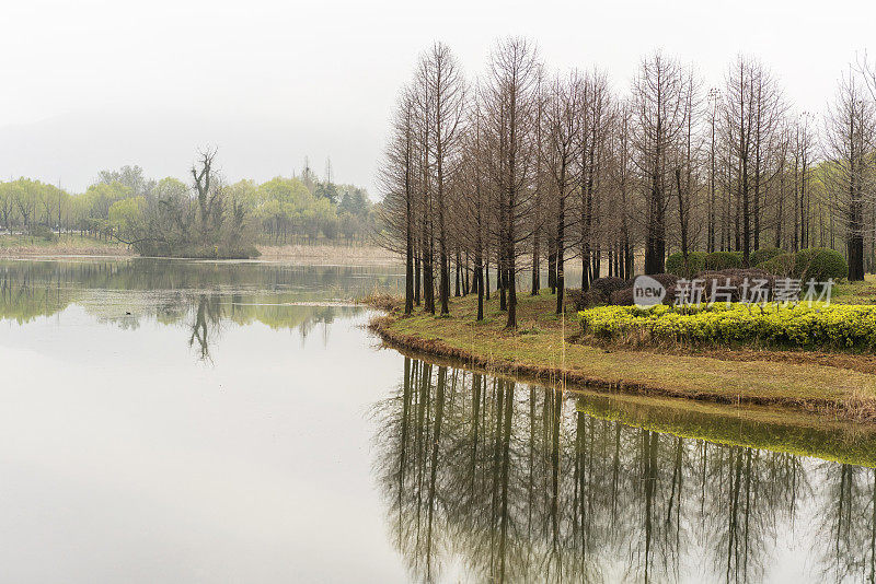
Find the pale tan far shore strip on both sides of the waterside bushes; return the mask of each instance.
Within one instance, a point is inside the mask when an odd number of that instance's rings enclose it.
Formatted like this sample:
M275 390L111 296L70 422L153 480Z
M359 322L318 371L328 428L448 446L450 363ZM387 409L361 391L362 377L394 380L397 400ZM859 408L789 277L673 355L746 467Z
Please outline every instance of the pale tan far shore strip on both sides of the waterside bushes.
M395 254L370 245L260 245L256 248L262 254L257 259L267 261L337 266L378 266L401 262ZM65 234L51 242L23 235L0 235L0 258L65 256L127 258L137 257L137 254L127 245L81 235Z

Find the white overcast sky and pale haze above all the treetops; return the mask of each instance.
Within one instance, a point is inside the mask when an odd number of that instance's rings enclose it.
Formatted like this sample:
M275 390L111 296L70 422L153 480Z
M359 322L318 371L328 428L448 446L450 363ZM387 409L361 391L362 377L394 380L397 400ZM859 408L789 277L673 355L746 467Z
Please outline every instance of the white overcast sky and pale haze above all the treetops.
M693 62L706 86L740 52L820 112L864 49L876 1L235 2L0 0L0 177L84 189L139 164L184 177L219 147L231 180L299 171L369 187L399 87L433 40L470 74L496 38L535 40L549 67L604 69L619 90L643 55Z

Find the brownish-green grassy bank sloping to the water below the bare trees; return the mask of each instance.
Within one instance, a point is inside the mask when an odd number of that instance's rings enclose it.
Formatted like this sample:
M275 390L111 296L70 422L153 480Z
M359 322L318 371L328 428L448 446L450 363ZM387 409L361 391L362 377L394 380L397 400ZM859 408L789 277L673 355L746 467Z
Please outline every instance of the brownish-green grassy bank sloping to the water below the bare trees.
M447 318L419 312L403 317L394 306L374 318L371 328L394 347L545 383L876 421L872 355L838 355L834 362L833 355L805 351L673 352L591 346L580 342L574 317L553 314L553 303L548 294L521 296L516 334L504 330L496 299L487 303L485 320L475 323L474 297L453 299L452 316Z

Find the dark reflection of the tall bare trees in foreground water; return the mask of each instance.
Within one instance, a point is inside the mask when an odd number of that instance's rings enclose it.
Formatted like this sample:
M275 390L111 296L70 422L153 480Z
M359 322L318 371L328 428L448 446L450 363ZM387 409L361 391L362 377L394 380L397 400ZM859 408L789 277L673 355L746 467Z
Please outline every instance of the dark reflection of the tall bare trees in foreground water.
M405 358L374 406L374 472L412 579L760 582L799 538L815 580L873 582L873 469L625 425L581 399Z

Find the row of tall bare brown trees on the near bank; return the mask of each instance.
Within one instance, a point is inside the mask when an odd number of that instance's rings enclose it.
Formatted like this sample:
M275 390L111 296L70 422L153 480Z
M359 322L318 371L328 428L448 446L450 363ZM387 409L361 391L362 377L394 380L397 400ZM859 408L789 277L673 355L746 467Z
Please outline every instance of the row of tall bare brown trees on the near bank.
M876 264L876 74L842 78L820 121L795 113L749 57L704 91L692 67L655 52L625 92L592 69L549 73L525 38L496 44L468 80L435 44L402 90L382 166L382 243L406 260L405 312L449 313L495 290L517 326L521 272L563 311L565 272L665 269L667 254L845 245L850 279ZM866 248L866 250L865 250ZM868 252L868 255L867 253ZM638 254L644 264L637 264Z

